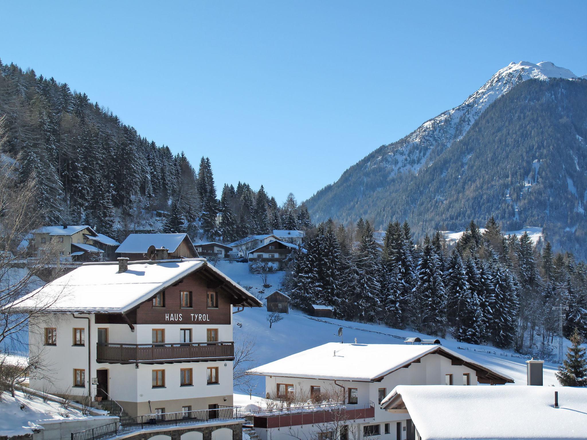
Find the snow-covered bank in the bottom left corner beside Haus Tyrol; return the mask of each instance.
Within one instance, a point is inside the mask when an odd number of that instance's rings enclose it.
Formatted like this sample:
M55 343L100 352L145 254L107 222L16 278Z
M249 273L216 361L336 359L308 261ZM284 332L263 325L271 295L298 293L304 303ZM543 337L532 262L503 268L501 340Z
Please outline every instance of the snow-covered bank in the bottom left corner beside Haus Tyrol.
M40 425L46 421L85 418L88 417L82 415L79 409L64 409L58 402L43 402L36 396L28 399L21 391L16 391L15 397L12 397L9 392L4 393L0 401L0 435L31 434L33 429L41 428Z

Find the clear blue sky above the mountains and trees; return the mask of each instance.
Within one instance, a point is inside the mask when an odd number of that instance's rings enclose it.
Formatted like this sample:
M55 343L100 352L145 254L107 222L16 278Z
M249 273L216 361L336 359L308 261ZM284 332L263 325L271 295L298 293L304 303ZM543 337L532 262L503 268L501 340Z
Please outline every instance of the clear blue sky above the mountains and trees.
M217 187L299 201L460 104L510 62L587 74L586 1L5 2L0 59L142 136L212 161Z

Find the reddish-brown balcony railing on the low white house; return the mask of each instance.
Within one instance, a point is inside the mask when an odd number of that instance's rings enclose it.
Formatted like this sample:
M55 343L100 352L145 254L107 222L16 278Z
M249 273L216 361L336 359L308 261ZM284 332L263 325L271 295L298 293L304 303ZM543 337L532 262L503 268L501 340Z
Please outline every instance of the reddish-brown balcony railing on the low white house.
M375 417L375 404L318 404L253 411L255 428L282 428Z

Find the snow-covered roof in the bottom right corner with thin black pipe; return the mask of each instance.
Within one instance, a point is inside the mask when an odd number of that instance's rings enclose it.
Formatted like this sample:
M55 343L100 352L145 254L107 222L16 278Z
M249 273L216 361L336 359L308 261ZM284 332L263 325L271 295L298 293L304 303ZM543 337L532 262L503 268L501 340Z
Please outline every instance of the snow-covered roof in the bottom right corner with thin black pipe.
M555 391L560 408L554 408ZM422 440L587 436L585 388L398 385L381 404L405 405Z

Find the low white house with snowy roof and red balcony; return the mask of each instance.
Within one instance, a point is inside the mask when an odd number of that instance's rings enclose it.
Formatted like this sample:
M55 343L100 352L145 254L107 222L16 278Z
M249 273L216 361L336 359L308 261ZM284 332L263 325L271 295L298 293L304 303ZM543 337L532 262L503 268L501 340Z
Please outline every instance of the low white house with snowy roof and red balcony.
M328 343L249 370L265 376L266 397L286 400L296 407L308 398L323 402L323 395L339 401L343 411L336 421L332 409L322 407L267 410L254 417L262 440L281 438L332 438L336 440L406 439L411 421L393 414L380 403L397 385L505 384L504 374L438 345ZM322 396L321 396L322 395ZM335 397L333 399L333 397ZM328 415L321 415L320 412ZM321 422L321 417L326 420ZM339 426L340 425L340 426ZM338 432L333 432L335 429Z

